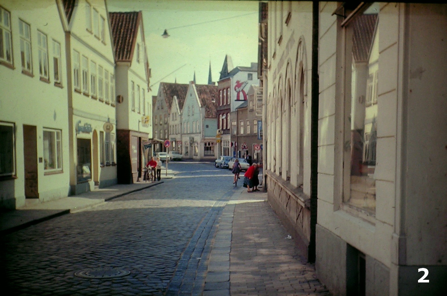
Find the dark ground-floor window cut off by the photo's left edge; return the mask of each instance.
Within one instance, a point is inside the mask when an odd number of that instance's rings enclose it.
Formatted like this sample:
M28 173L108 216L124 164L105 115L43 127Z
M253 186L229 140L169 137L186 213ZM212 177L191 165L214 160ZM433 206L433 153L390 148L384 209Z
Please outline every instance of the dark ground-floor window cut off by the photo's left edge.
M15 126L0 121L0 176L14 176L15 169Z

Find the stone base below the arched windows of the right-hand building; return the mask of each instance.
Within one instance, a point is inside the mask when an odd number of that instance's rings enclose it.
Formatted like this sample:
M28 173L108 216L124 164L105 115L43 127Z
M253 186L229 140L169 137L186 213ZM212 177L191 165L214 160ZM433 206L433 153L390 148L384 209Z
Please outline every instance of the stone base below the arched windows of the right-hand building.
M310 202L302 189L294 188L271 171L266 171L267 198L283 226L304 257L309 256Z

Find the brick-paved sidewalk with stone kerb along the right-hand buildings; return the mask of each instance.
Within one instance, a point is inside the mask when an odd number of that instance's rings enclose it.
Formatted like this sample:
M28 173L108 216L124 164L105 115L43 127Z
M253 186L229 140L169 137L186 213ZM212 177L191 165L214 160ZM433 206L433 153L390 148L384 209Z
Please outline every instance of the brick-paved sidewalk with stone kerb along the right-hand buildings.
M203 296L329 296L267 202L235 194L215 237Z

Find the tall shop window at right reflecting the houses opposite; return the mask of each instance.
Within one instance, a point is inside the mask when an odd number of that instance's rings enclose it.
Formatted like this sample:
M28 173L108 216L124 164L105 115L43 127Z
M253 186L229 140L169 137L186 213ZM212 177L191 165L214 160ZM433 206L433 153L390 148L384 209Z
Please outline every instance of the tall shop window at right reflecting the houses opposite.
M378 4L369 6L344 25L346 34L345 77L350 91L345 104L345 173L343 201L375 214L375 163L377 140L377 80L379 73ZM343 39L343 38L342 38ZM341 39L341 40L342 40Z

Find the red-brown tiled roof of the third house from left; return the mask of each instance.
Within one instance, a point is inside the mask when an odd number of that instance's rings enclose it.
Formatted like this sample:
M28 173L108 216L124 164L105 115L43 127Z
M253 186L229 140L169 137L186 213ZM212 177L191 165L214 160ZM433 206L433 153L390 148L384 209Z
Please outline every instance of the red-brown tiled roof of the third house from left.
M131 62L137 40L141 11L109 12L116 62Z

